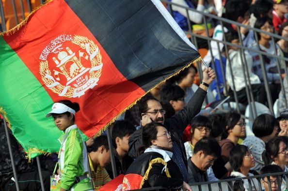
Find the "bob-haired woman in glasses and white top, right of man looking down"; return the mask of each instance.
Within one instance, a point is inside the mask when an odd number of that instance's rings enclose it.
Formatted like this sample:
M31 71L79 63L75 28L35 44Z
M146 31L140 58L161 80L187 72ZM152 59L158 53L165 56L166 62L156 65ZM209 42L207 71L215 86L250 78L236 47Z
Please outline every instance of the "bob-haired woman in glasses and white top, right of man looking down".
M255 165L254 157L250 149L244 145L237 145L230 151L229 162L233 168L231 176L236 177L246 177L254 176L249 173L250 169ZM249 189L249 184L251 184L252 190ZM256 178L252 178L249 183L247 179L243 179L243 186L245 191L260 191L258 181Z

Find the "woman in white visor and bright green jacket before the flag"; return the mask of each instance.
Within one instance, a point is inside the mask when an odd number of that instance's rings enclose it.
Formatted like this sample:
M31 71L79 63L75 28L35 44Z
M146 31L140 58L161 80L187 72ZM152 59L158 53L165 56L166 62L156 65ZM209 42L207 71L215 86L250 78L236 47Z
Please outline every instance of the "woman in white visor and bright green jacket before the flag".
M84 140L75 122L75 113L80 110L78 103L62 100L52 105L46 117L52 116L55 125L64 134L60 137L61 148L58 155L61 176L60 191L93 190L89 173L89 161Z

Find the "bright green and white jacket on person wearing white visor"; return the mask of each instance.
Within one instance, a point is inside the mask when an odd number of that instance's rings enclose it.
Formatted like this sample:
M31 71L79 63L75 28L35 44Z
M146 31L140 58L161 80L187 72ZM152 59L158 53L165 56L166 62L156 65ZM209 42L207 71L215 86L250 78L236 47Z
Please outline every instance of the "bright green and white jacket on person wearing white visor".
M89 172L87 150L77 125L68 127L59 140L61 141L59 151L61 187L69 190L75 183L76 177L83 177ZM85 179L80 182L82 181Z

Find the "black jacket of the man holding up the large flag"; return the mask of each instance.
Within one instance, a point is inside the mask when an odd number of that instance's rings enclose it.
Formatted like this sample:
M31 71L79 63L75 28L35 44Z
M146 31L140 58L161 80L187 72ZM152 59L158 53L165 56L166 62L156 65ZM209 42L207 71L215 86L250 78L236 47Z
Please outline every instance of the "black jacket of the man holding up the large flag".
M164 125L167 130L171 132L171 139L176 141L182 152L182 158L187 167L187 156L185 147L182 141L182 134L187 125L191 122L201 110L202 104L206 97L207 92L198 88L193 97L181 111L178 111L172 118L165 119ZM136 158L138 148L143 144L142 142L142 127L134 132L129 138L129 150L128 155L132 158Z

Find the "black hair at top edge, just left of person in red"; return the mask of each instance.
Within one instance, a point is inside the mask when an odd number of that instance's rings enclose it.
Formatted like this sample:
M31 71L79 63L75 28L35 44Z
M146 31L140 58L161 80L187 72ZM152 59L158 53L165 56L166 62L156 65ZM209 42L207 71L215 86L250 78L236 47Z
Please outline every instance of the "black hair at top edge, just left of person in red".
M258 19L266 16L271 9L273 9L274 2L272 0L256 0L256 2L251 5L250 11Z

